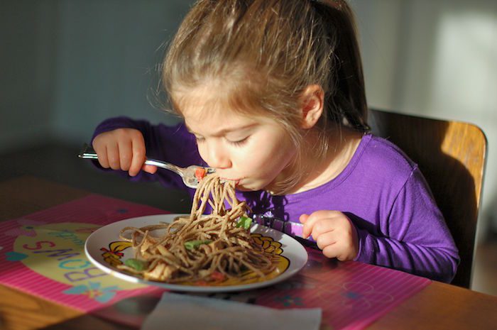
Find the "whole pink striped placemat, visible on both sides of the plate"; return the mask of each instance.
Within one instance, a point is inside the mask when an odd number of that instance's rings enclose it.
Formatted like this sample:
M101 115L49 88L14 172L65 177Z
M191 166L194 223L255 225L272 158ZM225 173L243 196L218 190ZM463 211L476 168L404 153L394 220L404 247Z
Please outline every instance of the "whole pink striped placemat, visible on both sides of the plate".
M136 311L133 304L160 297L164 290L107 275L87 260L84 241L114 221L164 213L89 195L0 222L0 283L138 327L151 311L131 315L126 309ZM310 248L307 252L307 265L289 280L260 290L207 296L283 309L318 307L322 329L364 329L431 282L387 268L329 260Z

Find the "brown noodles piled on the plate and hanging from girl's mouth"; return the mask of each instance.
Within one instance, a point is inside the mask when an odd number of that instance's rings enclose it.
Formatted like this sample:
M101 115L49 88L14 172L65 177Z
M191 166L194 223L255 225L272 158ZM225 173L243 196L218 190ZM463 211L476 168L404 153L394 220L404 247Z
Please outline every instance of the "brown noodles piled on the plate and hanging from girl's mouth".
M226 209L225 201L231 208ZM207 204L212 214L204 215ZM254 243L249 229L240 226L248 210L246 202L236 199L234 182L207 175L197 187L190 216L121 230L120 238L132 243L135 258L118 268L170 283L219 281L240 277L246 270L264 277L275 269L275 255ZM158 230L165 234L153 236ZM130 231L131 238L126 237Z

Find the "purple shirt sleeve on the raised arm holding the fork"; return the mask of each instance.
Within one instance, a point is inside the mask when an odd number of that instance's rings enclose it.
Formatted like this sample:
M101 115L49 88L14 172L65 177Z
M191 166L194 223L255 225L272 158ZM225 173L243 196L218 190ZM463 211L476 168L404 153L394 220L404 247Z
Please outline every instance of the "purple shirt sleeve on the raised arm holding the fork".
M180 167L205 165L198 153L195 137L187 131L183 123L175 126L165 126L163 124L153 125L148 121L133 120L124 116L106 119L95 128L92 142L97 135L117 128L134 128L141 131L145 140L147 158L164 160ZM94 165L102 170L108 170L102 168L98 161L94 161ZM185 187L181 177L169 170L159 168L153 175L140 171L135 177L129 176L126 171L108 171L117 172L131 181L158 181L165 187L193 190Z

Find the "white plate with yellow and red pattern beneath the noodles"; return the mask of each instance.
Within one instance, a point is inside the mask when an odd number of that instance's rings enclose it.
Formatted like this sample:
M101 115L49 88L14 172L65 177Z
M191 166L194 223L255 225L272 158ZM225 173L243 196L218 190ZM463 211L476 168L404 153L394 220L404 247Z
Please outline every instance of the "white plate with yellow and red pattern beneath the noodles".
M115 267L116 263L123 263L128 258L133 258L133 248L130 243L119 239L119 231L127 226L142 227L162 222L171 222L176 216L184 214L160 214L154 216L141 216L138 218L126 219L108 224L94 231L88 236L84 243L84 252L94 265L111 275L129 282L157 285L168 290L187 292L228 292L239 290L250 290L257 287L272 285L276 282L286 280L295 275L307 263L307 251L295 238L274 229L253 224L252 235L258 236L256 241L266 246L266 248L278 248L280 258L278 267L273 273L261 280L253 273L247 271L237 280L227 280L222 283L209 284L197 282L185 282L169 284L165 282L143 280L137 275L131 275ZM114 265L112 265L114 263Z

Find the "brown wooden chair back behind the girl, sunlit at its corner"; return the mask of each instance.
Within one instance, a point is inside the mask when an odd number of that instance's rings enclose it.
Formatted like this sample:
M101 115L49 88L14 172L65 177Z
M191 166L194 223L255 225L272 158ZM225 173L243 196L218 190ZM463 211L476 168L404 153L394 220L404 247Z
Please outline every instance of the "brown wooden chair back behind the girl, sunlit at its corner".
M486 137L471 123L371 109L373 133L398 145L420 167L459 248L452 284L469 288L486 163Z

